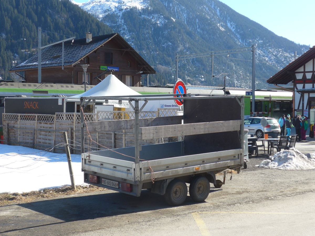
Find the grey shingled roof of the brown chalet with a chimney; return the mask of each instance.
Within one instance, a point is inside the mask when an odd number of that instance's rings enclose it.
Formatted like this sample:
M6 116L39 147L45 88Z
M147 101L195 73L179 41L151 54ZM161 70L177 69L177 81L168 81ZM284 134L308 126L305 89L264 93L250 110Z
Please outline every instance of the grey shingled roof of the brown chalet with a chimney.
M100 35L92 37L91 42L86 42L86 38L81 38L64 42L64 66L73 66L78 61L100 48L103 44L110 40L115 40L122 48L139 61L143 65L148 74L156 73L155 70L126 42L118 33ZM54 44L47 48L43 48L41 52L42 68L62 66L62 42ZM38 53L34 54L24 62L13 67L10 71L23 71L37 69Z

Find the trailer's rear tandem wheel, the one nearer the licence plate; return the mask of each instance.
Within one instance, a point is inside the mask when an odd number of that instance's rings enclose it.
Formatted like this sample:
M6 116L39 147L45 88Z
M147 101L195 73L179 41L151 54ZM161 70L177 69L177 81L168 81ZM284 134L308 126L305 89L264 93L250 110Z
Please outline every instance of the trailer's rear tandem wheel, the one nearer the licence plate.
M180 179L173 179L166 188L164 198L171 206L178 206L184 203L187 197L187 185Z

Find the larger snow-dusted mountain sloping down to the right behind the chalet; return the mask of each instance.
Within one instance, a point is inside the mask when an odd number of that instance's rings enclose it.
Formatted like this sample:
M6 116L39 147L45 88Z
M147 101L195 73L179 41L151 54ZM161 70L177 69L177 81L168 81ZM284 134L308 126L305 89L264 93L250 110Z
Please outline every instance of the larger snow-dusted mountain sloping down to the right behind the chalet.
M124 37L158 72L150 85L175 82L175 56L256 45L255 87L301 55L307 45L277 36L218 0L90 0L80 7ZM266 16L270 17L270 16ZM187 84L251 88L252 53L231 53L179 61Z

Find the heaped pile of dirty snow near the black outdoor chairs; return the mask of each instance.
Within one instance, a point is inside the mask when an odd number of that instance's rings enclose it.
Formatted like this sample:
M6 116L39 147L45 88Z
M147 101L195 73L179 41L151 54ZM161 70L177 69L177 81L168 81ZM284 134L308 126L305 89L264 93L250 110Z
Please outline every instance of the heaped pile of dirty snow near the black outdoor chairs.
M299 150L292 148L283 150L270 156L270 160L262 161L258 167L279 170L312 170L315 169L315 153L302 154Z

